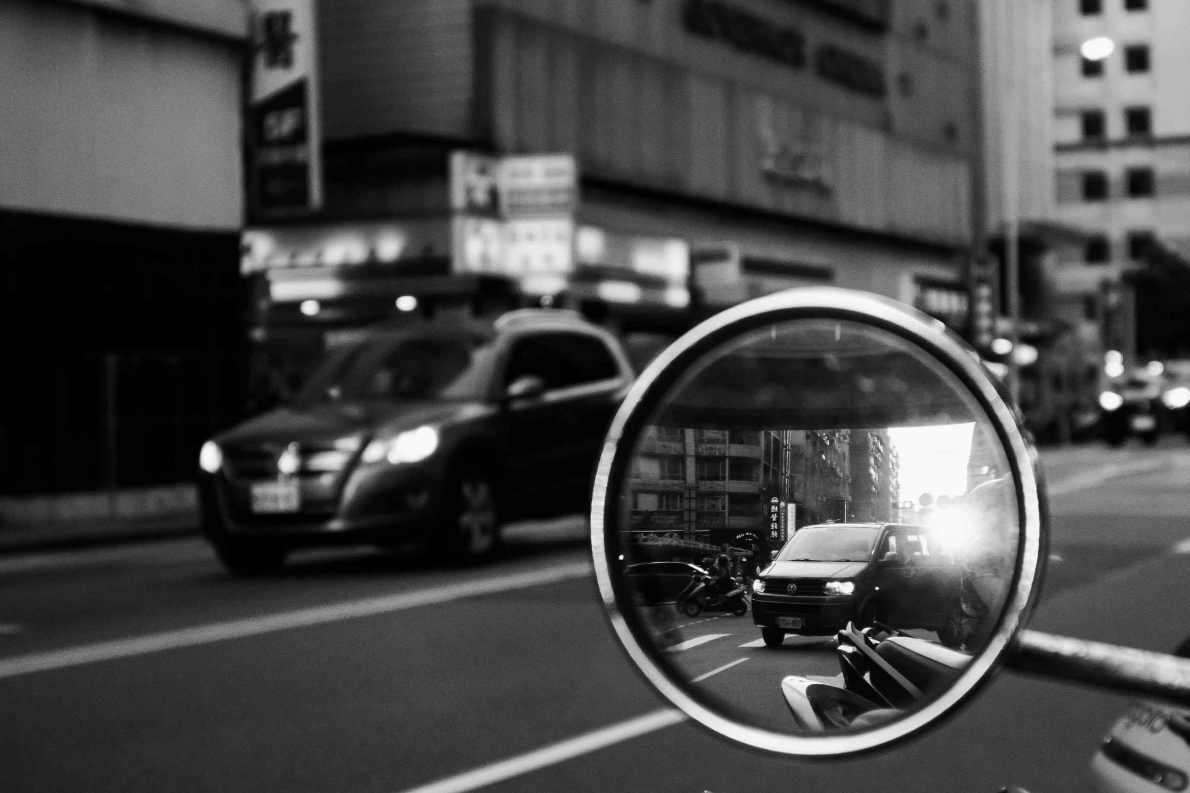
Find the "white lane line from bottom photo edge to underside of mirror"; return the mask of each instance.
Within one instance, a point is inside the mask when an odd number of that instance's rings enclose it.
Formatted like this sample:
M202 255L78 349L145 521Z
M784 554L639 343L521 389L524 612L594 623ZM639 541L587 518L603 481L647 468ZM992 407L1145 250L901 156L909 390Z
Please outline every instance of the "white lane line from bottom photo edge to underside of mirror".
M615 743L654 732L671 724L684 722L685 718L685 713L676 710L665 709L653 711L652 713L638 716L627 722L620 722L619 724L605 726L585 735L568 738L566 741L560 741L524 755L501 760L490 766L482 766L456 776L440 779L437 782L413 787L402 793L466 793L466 791L495 785L513 776L528 774L546 766L553 766Z

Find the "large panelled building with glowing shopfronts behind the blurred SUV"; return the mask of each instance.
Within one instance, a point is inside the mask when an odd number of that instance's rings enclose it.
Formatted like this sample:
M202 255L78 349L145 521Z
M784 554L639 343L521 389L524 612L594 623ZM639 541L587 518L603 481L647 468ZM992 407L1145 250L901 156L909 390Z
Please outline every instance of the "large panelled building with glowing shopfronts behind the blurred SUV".
M441 303L477 269L621 328L808 284L965 326L973 0L342 0L318 36L325 201L250 215L259 339L325 339L406 288ZM568 155L576 201L461 222L461 150ZM531 287L509 250L564 263ZM388 302L344 309L368 289Z

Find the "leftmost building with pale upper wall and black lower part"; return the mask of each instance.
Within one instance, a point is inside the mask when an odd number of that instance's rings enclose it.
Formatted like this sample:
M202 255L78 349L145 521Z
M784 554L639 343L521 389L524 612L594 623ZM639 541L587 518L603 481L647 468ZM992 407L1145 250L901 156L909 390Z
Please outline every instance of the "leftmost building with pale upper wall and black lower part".
M0 6L0 493L186 480L240 415L248 34L236 0Z

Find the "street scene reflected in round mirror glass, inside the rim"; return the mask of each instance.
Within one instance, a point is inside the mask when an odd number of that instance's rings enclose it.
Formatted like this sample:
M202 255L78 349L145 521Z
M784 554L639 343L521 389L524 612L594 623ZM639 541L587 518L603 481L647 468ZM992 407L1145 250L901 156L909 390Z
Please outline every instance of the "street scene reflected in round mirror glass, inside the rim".
M900 336L794 320L715 348L619 486L618 569L672 680L731 718L872 728L944 692L1013 580L1008 458Z

